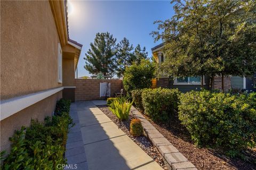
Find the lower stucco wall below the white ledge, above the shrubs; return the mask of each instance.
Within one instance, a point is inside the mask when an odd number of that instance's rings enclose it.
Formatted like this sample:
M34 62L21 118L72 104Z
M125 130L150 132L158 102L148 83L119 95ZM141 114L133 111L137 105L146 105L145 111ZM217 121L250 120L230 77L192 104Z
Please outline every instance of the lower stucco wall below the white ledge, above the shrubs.
M52 111L55 109L56 101L61 97L62 91L59 91L57 94L47 97L44 100L41 100L38 103L2 120L1 150L10 151L11 142L9 141L9 137L12 137L14 130L20 130L21 126L28 126L31 118L43 121L45 116L51 116Z

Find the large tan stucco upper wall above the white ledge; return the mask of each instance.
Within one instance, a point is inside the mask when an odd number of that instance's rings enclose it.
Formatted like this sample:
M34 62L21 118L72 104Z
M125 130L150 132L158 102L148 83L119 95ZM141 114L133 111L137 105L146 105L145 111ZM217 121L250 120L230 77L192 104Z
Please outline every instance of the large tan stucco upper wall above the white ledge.
M1 2L1 100L62 86L49 1Z

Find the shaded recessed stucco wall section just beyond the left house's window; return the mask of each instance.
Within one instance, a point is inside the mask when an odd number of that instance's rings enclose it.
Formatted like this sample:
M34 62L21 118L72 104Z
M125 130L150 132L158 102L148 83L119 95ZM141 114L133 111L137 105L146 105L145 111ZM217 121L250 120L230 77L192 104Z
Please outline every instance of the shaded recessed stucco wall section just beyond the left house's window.
M62 74L63 86L75 86L75 63L74 59L63 58L62 60Z

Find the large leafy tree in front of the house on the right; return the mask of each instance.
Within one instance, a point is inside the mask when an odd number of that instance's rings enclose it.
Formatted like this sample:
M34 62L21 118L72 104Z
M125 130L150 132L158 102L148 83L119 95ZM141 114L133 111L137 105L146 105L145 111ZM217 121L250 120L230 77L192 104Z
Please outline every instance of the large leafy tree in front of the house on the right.
M173 77L256 72L255 1L172 1L175 15L156 21L165 42L161 73ZM203 81L202 81L203 86Z

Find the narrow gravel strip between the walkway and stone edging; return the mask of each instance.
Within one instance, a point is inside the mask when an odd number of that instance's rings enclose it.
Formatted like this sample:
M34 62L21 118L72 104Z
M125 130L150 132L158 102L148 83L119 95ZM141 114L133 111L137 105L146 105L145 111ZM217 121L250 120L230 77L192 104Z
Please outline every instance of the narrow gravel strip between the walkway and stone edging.
M103 106L97 106L103 113L105 113L111 121L113 121L124 133L126 133L142 150L144 150L151 158L155 160L162 168L167 169L164 165L163 159L160 156L160 153L154 147L150 140L145 136L141 137L133 137L130 133L130 122L132 118L134 118L132 115L129 116L129 119L126 121L119 121L118 118L109 111L109 108L107 105Z

